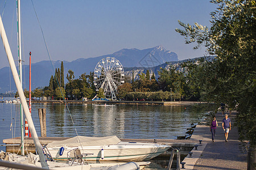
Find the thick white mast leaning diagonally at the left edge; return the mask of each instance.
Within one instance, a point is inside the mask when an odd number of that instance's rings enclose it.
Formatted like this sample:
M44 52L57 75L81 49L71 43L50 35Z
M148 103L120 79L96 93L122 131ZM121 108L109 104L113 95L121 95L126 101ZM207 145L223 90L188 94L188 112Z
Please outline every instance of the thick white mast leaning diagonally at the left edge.
M42 165L42 168L49 169L48 164L46 162L46 157L44 156L44 153L43 153L43 150L42 150L42 145L40 144L39 139L38 139L38 134L36 134L35 126L34 126L34 123L32 121L30 111L29 111L28 106L27 106L27 101L26 101L26 98L24 96L24 92L22 90L22 87L20 86L19 76L18 76L16 67L15 67L13 54L11 54L10 45L9 45L8 40L7 40L7 36L6 36L6 33L5 33L5 28L3 27L1 16L0 16L0 34L1 34L1 37L2 37L2 41L3 41L3 46L5 46L5 52L7 54L7 58L8 58L10 67L11 67L11 72L13 73L13 78L14 78L14 81L15 81L15 84L16 84L16 88L18 90L20 101L22 103L24 113L25 113L26 118L27 118L28 125L30 126L30 130L31 130L32 138L33 138L34 143L35 143L36 151L38 151L38 154L39 154L40 163Z

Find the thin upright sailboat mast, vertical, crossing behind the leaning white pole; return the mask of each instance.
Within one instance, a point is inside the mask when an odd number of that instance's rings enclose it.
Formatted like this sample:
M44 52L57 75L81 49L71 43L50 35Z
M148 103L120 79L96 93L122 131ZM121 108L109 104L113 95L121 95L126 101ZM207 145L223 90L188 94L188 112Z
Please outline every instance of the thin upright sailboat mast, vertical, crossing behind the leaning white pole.
M22 56L21 56L21 36L20 36L20 0L17 0L17 24L18 24L18 57L19 57L19 80L22 88ZM25 155L24 152L24 125L23 125L23 108L20 104L20 138L21 138L21 154Z

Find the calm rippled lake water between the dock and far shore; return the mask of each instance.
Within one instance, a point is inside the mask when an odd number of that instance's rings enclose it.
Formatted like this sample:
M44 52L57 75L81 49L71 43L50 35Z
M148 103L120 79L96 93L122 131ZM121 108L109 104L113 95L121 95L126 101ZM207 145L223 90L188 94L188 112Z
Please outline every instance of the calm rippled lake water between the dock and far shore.
M48 137L75 137L77 131L88 137L117 135L138 139L175 139L184 135L192 123L201 121L205 113L213 111L212 104L68 104L67 109L64 104L32 103L32 119L39 136L38 108L46 108ZM19 110L19 104L0 103L0 145L3 139L20 137ZM5 147L0 146L0 150L5 151Z

